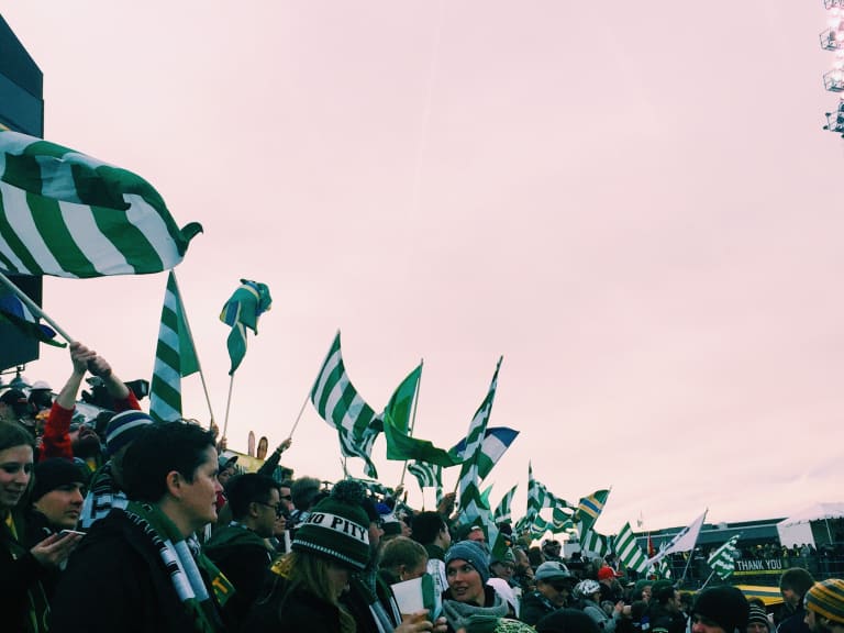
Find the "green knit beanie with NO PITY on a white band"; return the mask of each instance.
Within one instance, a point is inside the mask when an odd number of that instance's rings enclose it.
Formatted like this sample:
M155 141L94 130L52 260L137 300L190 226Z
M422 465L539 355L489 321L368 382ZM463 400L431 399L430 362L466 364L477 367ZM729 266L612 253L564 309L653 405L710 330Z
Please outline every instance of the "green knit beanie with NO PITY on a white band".
M292 548L310 552L362 570L369 563L369 517L357 481L337 482L296 531Z

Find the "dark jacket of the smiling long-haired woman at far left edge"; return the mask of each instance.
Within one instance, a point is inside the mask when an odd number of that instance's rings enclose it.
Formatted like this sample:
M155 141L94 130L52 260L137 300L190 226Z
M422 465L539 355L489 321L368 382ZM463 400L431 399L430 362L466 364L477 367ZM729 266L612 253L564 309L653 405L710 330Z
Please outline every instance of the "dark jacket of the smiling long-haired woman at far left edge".
M23 521L14 517L18 536L24 541ZM12 535L5 518L0 517L0 622L4 633L46 631L43 619L49 608L42 581L47 577L48 570Z

